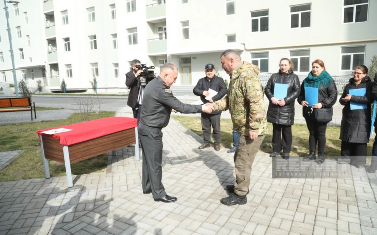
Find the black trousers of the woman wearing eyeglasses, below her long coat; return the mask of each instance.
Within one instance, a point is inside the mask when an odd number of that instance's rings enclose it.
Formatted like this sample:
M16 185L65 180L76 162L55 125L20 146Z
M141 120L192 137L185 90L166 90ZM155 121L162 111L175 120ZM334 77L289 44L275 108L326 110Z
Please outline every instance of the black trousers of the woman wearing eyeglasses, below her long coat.
M364 165L366 163L366 144L349 143L342 140L340 156L342 159L349 159L349 163Z

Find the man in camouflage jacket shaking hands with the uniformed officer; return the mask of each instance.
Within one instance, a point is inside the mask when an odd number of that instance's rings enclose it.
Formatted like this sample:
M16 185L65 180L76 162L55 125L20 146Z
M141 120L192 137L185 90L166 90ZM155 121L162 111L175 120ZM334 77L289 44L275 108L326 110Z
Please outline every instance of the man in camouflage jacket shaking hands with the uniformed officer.
M236 183L226 186L229 197L221 199L222 204L232 206L247 203L251 166L264 140L267 120L258 66L242 62L233 49L224 51L220 58L222 68L230 76L230 85L227 95L213 103L213 108L215 111L229 109L233 128L241 134L234 153Z

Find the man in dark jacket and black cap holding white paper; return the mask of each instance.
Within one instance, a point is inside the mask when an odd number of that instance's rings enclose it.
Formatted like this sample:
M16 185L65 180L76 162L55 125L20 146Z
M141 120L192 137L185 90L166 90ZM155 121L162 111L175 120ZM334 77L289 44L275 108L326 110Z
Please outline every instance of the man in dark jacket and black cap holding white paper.
M213 103L220 100L227 94L228 89L225 86L224 79L215 75L215 66L207 64L204 67L205 77L199 79L193 92L200 96L203 103ZM210 89L216 91L217 94L213 97L210 95ZM220 131L220 116L221 112L212 112L210 114L202 113L202 130L204 143L199 146L199 149L211 147L211 126L213 128L213 142L216 151L220 150L221 131Z

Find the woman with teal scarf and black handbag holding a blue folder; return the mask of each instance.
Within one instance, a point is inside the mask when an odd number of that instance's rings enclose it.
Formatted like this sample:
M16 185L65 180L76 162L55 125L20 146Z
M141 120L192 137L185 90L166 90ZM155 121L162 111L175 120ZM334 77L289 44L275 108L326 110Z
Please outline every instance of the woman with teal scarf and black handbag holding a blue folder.
M338 91L334 79L325 69L322 60L314 60L311 64L312 69L301 84L301 92L297 101L302 105L302 116L305 118L309 131L309 154L305 156L303 161L315 160L316 163L325 161L325 145L326 145L326 122L317 122L312 118L314 109L328 108L332 109L336 103ZM318 88L318 103L308 106L305 101L305 87ZM316 159L316 147L318 143L318 158Z

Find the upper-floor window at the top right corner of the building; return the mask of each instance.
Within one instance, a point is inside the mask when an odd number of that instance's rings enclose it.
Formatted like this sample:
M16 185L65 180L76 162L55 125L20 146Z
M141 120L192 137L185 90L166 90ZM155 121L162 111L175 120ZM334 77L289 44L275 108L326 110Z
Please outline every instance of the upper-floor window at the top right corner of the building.
M366 22L369 0L344 0L343 23Z

